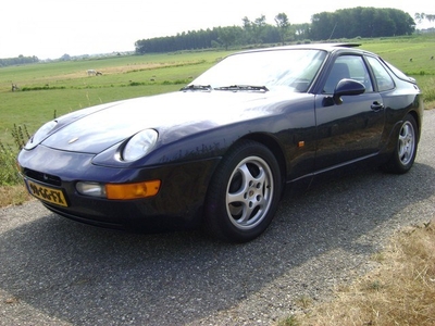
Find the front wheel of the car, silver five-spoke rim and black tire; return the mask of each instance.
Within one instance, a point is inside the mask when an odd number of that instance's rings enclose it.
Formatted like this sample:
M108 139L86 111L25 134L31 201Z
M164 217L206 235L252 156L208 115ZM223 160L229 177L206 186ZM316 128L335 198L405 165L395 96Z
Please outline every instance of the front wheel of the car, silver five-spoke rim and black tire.
M229 242L257 238L273 220L282 185L279 165L265 146L252 140L236 143L209 186L206 230Z

